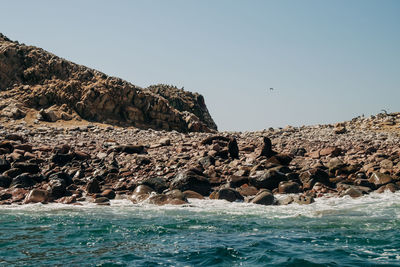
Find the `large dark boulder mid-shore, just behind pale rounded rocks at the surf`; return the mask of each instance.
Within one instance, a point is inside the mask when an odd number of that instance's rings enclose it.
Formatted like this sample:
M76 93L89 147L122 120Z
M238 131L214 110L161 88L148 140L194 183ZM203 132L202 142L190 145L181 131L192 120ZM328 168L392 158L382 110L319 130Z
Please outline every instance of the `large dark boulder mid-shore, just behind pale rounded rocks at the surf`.
M192 190L203 196L208 195L211 191L209 180L194 171L179 172L172 180L170 188L181 191Z

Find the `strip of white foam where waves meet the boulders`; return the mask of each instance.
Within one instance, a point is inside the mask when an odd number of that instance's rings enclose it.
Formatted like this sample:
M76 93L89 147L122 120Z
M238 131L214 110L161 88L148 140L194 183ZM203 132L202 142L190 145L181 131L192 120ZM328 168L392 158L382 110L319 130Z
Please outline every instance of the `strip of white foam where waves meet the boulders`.
M281 198L284 196L277 196ZM396 208L397 207L397 208ZM392 209L392 216L400 218L400 192L382 194L371 193L360 198L351 197L322 197L315 199L309 205L290 204L282 206L263 206L244 202L228 202L225 200L198 200L189 199L189 204L176 206L165 205L156 206L151 204L132 204L129 200L111 200L110 206L99 206L94 203L82 202L82 205L65 205L58 203L50 204L27 204L0 206L1 210L15 211L102 211L112 210L115 213L131 211L171 211L183 210L190 212L226 214L226 215L246 215L246 216L265 216L268 218L286 217L323 217L323 216L369 216L381 217L387 214L387 209Z

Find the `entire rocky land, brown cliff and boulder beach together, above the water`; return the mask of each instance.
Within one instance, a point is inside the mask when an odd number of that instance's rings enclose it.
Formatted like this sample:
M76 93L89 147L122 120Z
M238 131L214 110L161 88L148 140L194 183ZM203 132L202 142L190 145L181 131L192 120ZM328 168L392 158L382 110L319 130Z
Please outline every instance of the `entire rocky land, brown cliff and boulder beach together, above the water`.
M0 123L3 205L310 204L400 187L400 113L218 132L198 93L141 88L1 33Z

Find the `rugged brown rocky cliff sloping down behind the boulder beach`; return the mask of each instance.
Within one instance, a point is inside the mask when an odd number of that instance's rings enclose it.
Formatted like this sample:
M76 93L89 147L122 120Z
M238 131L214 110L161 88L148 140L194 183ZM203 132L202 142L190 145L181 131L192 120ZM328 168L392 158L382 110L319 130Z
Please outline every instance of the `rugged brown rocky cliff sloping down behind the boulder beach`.
M203 96L197 93L167 85L140 88L43 49L11 41L2 34L0 100L7 114L14 114L10 110L18 105L21 109L22 105L22 109L50 108L56 111L54 114L64 114L49 116L53 120L79 116L138 128L180 132L217 130ZM7 103L13 106L8 107ZM18 116L23 114L18 112Z

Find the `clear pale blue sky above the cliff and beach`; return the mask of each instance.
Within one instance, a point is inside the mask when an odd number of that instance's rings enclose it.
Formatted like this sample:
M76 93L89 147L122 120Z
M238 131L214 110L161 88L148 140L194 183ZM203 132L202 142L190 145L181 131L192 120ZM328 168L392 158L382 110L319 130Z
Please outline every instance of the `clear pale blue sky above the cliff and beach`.
M399 0L39 0L1 10L0 32L13 40L142 87L203 94L220 130L400 111Z

